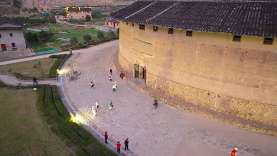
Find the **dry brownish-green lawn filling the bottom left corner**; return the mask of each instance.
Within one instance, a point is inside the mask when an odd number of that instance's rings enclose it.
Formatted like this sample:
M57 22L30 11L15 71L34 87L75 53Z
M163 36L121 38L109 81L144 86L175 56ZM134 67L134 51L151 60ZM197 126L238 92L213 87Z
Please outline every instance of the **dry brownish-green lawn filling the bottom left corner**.
M43 121L36 93L0 88L0 155L74 155Z

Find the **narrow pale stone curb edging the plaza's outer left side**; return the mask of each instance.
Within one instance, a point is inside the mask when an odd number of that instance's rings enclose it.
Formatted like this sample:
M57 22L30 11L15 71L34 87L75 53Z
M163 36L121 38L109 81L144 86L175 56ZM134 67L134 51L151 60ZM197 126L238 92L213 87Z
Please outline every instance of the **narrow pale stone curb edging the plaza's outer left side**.
M67 63L69 62L69 60L71 59L72 56L74 56L76 53L72 54L65 62L64 64L61 66L61 69L63 69ZM58 94L60 95L60 99L63 102L64 106L66 107L67 111L70 114L76 115L76 111L74 110L74 108L71 107L71 105L69 104L66 95L63 91L63 87L62 87L62 77L59 74L57 76L57 90L58 90ZM86 129L89 133L91 133L101 144L103 144L104 146L106 146L107 148L109 148L110 150L114 151L116 153L116 145L113 142L110 142L111 140L108 141L108 144L105 144L105 139L104 139L104 135L101 134L101 132L97 132L96 130L94 130L93 128L82 124L81 122L79 122L80 125ZM129 155L129 153L126 153L124 150L121 150L121 154L122 156L125 155Z

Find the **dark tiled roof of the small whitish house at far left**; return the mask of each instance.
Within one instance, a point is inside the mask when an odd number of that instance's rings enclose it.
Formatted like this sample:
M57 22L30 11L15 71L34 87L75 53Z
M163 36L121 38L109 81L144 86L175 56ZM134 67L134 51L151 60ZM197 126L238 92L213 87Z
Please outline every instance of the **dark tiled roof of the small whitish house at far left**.
M0 29L22 29L23 24L15 19L0 17Z

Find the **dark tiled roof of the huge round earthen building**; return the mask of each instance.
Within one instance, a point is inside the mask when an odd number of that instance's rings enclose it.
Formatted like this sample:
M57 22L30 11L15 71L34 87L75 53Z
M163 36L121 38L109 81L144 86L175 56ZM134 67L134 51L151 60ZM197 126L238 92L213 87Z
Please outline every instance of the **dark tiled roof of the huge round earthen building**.
M142 9L130 12L133 8ZM138 1L110 15L120 21L168 28L277 37L277 2L273 1Z

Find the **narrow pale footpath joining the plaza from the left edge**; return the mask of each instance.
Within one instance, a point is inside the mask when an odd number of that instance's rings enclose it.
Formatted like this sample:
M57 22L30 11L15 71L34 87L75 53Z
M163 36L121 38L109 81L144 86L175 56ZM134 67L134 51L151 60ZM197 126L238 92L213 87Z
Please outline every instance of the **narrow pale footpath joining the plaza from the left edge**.
M0 73L0 81L11 86L16 86L20 83L22 86L33 85L33 81L22 81L18 80L16 77L7 74ZM48 84L48 85L57 85L55 81L37 81L38 84Z

